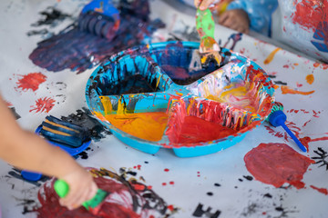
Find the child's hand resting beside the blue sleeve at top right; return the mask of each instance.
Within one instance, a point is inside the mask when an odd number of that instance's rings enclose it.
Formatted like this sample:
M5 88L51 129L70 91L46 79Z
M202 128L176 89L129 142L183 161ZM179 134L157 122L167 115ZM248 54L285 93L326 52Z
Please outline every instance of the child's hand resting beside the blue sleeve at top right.
M233 9L224 12L219 17L219 24L244 34L248 34L250 30L250 19L242 9Z

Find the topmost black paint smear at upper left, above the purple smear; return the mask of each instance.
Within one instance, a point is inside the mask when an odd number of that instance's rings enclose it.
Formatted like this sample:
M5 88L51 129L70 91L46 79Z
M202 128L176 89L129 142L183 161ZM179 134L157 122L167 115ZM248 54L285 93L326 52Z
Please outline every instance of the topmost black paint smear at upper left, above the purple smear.
M47 7L45 11L42 11L39 14L43 15L43 17L31 26L50 25L51 27L55 27L59 22L71 17L71 15L67 15L53 6Z

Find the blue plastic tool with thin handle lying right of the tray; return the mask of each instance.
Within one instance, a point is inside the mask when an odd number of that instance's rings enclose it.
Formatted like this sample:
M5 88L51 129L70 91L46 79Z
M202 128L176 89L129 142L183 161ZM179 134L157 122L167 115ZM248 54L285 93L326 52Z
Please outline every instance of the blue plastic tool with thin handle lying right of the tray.
M285 124L287 120L286 114L284 114L281 110L274 111L272 114L269 115L269 123L272 124L274 127L282 126L282 128L292 137L292 140L299 146L299 148L302 150L302 152L307 152L307 149L298 138L294 134L292 134L292 131L287 127Z

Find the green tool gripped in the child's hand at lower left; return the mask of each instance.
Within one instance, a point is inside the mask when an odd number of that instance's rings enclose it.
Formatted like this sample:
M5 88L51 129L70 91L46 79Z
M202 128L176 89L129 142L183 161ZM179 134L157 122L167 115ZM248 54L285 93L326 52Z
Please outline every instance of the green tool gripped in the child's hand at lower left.
M69 186L67 182L64 180L56 180L54 183L54 189L59 197L63 198L69 192ZM108 196L108 192L98 189L97 193L93 198L87 200L86 202L82 203L82 205L89 211L90 213L97 214L101 208L102 203L104 202L105 198Z

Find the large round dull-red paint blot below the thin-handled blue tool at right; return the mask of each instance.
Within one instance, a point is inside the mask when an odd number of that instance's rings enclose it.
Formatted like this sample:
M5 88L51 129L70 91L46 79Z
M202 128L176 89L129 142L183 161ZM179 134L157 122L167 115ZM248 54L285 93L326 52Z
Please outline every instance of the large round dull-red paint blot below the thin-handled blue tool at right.
M244 161L256 180L277 188L290 183L297 189L304 187L303 173L315 163L287 144L259 144L244 156Z

